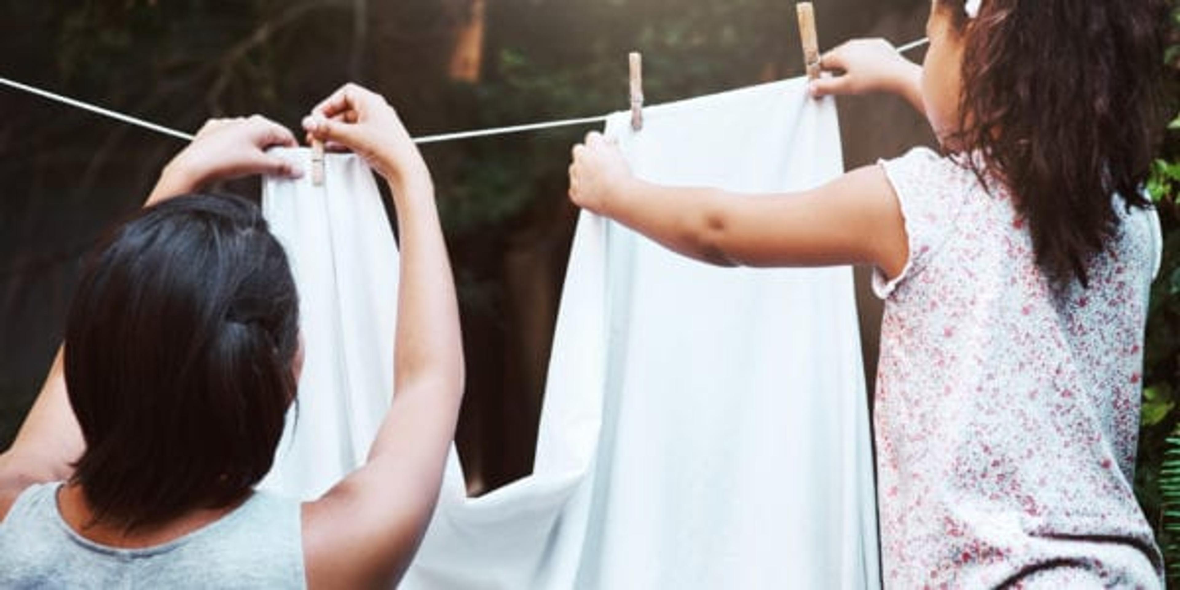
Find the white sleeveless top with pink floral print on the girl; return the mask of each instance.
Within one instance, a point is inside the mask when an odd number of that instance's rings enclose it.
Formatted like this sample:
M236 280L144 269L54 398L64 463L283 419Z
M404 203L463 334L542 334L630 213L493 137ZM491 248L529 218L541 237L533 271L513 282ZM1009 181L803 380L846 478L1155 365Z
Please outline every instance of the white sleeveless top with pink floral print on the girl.
M1055 294L1003 188L926 149L881 166L911 253L874 277L886 588L1162 586L1132 491L1154 212L1115 199L1090 288Z

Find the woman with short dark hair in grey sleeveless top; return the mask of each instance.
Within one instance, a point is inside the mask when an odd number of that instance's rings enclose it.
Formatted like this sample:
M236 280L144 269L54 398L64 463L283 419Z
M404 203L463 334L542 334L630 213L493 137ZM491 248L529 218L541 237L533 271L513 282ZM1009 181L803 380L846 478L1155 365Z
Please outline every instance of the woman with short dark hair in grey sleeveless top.
M396 202L396 398L368 463L302 505L253 490L299 381L295 284L256 205L178 195L297 173L263 152L295 138L206 124L90 258L64 354L0 455L0 586L389 588L406 569L463 392L454 286L393 109L349 85L315 114L310 135L362 155Z

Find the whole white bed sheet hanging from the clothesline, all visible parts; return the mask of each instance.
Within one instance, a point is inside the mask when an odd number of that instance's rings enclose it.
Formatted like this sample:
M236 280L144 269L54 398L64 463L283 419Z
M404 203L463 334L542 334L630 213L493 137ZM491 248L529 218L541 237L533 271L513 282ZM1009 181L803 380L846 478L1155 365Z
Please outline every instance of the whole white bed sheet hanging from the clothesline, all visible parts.
M789 191L841 171L834 104L802 79L649 106L638 133L616 113L607 135L667 184ZM324 190L264 195L307 340L264 484L303 498L362 460L392 382L392 236L349 210L379 199L362 166L328 164ZM467 498L452 452L401 588L879 588L871 457L851 269L709 267L584 212L533 473Z

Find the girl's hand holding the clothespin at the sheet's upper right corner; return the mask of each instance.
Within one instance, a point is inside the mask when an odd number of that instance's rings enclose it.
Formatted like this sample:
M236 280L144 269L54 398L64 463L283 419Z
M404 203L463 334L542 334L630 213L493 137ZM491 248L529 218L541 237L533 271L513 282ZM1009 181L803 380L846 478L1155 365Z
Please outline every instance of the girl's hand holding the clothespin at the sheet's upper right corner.
M828 94L891 92L912 101L911 93L920 92L922 67L903 58L884 39L856 39L845 42L825 53L820 65L825 71L837 72L837 76L811 83L811 92L815 98Z

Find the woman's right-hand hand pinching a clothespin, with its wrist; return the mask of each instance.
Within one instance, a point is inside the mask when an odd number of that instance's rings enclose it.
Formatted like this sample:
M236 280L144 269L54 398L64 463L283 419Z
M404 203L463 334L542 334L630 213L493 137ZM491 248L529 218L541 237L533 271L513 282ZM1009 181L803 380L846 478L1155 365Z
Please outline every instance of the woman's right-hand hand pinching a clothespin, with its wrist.
M430 171L418 146L385 97L346 84L303 119L308 139L342 145L399 189L430 184Z

